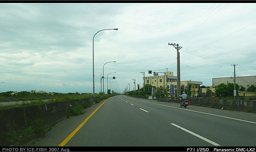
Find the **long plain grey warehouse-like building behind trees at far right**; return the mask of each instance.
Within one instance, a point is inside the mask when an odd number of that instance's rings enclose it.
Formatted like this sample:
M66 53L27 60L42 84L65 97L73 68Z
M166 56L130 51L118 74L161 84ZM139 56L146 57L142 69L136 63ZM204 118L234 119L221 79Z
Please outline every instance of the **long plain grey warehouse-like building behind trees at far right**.
M234 83L234 77L218 77L212 78L212 87L216 87L221 83ZM256 85L256 76L236 77L236 83L241 87L247 89L251 85Z

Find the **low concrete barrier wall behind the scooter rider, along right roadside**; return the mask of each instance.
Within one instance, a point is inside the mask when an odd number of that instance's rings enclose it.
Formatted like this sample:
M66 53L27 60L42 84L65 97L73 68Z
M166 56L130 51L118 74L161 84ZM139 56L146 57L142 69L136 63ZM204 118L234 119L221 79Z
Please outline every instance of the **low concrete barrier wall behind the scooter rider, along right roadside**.
M136 98L148 99L145 96L134 96ZM159 100L171 103L180 103L177 98L159 98L156 97L154 100ZM253 112L256 113L256 101L253 100L221 100L221 99L200 99L200 98L188 98L190 105L193 106L205 106L216 109L225 110L236 110L240 112Z

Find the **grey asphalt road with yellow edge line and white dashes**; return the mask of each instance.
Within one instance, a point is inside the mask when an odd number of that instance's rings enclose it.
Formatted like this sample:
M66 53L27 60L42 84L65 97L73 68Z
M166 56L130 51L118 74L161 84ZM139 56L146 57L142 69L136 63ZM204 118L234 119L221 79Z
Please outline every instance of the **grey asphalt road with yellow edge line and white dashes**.
M256 143L256 114L198 106L185 109L177 103L125 95L104 101L88 108L84 115L59 122L32 146L255 146Z

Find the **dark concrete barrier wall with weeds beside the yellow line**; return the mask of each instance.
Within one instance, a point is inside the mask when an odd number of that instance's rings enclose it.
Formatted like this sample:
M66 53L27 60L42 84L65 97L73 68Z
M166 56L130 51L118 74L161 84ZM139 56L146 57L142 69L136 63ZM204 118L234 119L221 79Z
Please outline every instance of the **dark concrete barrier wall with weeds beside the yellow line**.
M26 127L28 122L35 118L43 119L48 124L61 121L66 117L68 109L76 103L83 106L94 104L93 98L84 98L0 109L0 146L6 146L3 136L8 130Z

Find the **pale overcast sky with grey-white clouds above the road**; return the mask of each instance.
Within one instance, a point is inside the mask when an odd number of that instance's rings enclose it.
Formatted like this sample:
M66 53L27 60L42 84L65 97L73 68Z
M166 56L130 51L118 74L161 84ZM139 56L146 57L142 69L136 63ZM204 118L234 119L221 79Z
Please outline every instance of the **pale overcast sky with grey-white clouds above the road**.
M94 37L95 93L105 63L116 92L142 87L140 72L177 76L168 43L182 46L181 81L212 86L232 64L255 76L255 14L256 3L0 3L0 92L93 92L93 36L114 28Z

